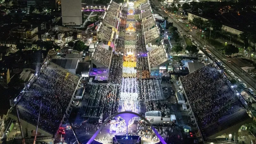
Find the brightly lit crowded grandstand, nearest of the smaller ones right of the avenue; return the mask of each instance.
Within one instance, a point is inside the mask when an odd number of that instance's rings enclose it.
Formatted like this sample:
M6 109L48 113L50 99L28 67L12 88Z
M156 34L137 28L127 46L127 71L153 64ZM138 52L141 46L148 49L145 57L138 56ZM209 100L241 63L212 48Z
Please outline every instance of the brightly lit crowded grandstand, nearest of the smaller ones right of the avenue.
M163 45L158 46L149 52L150 68L154 68L167 61L166 52Z

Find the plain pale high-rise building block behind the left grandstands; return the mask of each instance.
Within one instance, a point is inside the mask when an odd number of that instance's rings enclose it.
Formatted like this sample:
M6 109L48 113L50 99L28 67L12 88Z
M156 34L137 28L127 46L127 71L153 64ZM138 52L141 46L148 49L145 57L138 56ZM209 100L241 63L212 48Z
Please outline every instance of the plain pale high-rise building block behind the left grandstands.
M81 0L61 0L62 25L82 25L82 4Z

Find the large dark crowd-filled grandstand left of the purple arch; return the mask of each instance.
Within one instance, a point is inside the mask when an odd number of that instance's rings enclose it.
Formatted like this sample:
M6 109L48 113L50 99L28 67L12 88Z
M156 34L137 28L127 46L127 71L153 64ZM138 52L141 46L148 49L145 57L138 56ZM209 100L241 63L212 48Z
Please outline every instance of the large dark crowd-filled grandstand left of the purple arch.
M55 136L71 104L76 91L78 76L50 62L17 104L22 131L28 137L36 130L38 113L42 100L38 132L44 136ZM17 120L14 107L9 116Z

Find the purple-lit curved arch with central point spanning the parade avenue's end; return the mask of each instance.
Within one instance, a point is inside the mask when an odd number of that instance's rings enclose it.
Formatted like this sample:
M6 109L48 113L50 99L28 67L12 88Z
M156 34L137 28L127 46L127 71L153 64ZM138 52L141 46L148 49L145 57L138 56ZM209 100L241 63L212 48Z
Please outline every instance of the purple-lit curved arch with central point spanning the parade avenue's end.
M159 140L162 142L162 144L166 144L166 142L164 141L164 139L161 137L161 135L156 131L156 129L153 127L153 125L143 116L137 114L137 113L134 113L134 112L131 112L131 111L123 111L123 112L119 112L119 113L116 113L110 117L108 117L108 119L100 126L100 128L93 134L93 136L91 137L91 139L86 143L86 144L91 144L92 141L96 138L96 136L99 134L99 132L103 129L103 127L105 126L105 124L107 124L107 122L112 119L113 117L115 116L121 116L124 120L125 120L125 123L126 125L128 126L128 122L130 119L132 119L132 117L134 116L139 116L140 118L142 118L144 121L146 121L150 127L152 128L152 130L156 133L156 136L159 138Z

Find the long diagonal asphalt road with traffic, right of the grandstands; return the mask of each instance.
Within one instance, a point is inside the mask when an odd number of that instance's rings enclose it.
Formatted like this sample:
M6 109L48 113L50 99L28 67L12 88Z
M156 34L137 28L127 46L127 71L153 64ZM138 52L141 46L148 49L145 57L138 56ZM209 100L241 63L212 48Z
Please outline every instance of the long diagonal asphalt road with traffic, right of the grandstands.
M152 3L156 6L156 9L161 9L161 4L160 2L156 1L156 0L151 0ZM198 42L198 44L200 44L201 46L204 46L205 44L209 46L208 48L208 52L209 53L212 53L212 55L219 59L227 68L227 70L231 70L235 76L237 76L239 79L241 79L243 81L243 83L245 83L247 85L248 88L252 88L252 90L254 92L256 92L256 80L248 73L246 73L242 68L236 66L235 63L233 62L228 62L227 61L227 57L223 54L221 54L220 51L216 50L214 46L212 46L211 44L209 44L208 42L205 43L204 39L199 39L199 37L195 36L196 35L196 30L193 29L192 32L189 31L189 28L187 27L183 27L182 26L182 23L176 21L177 18L175 18L175 16L172 16L170 14L167 14L165 13L163 10L158 12L160 14L162 14L163 16L167 16L169 18L169 21L173 22L173 26L177 27L179 32L182 30L182 32L180 32L181 34L183 34L184 32L184 35L192 35L193 36L193 39L196 40ZM173 17L173 18L172 18ZM185 31L184 31L185 30ZM189 32L186 32L186 31L189 31ZM245 89L246 91L248 90ZM252 96L252 98L255 100L255 98Z

